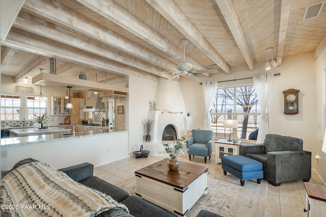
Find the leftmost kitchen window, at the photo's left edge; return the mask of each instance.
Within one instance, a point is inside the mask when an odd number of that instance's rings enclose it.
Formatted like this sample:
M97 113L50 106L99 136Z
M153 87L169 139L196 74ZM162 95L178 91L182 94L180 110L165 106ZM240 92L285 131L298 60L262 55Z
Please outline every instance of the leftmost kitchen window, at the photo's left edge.
M19 96L1 95L1 120L19 120L20 106Z

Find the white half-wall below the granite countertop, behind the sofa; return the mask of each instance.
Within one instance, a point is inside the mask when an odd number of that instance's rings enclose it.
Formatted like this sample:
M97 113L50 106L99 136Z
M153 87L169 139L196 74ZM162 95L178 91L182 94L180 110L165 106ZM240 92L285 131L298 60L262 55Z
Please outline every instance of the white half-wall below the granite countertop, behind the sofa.
M1 150L8 151L8 157L1 159L1 170L9 170L26 158L34 158L57 169L84 162L97 167L128 157L128 132L13 145L1 147Z

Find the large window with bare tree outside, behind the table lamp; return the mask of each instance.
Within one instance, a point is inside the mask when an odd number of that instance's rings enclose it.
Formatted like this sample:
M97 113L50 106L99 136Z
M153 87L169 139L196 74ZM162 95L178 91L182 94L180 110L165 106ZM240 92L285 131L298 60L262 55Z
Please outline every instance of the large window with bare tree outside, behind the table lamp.
M249 139L259 127L261 114L255 86L217 89L210 114L214 136L229 137L232 129L223 128L223 120L237 119L237 138Z

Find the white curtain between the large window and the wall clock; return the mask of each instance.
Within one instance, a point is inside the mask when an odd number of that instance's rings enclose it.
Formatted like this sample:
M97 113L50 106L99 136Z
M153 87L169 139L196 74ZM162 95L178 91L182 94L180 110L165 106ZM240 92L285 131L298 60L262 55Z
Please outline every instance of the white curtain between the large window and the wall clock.
M271 88L273 87L273 74L255 75L254 84L256 88L257 99L260 105L261 116L259 121L259 130L256 143L263 143L266 134L268 134L267 107Z

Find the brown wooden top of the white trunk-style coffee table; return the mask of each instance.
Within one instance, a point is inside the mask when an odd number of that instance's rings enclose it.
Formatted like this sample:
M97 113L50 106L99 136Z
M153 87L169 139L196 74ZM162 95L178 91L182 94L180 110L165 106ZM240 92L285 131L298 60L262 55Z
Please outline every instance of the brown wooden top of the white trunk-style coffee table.
M167 164L168 158L139 169L134 173L184 190L199 176L208 171L206 166L183 161L180 161L179 170L171 171Z

